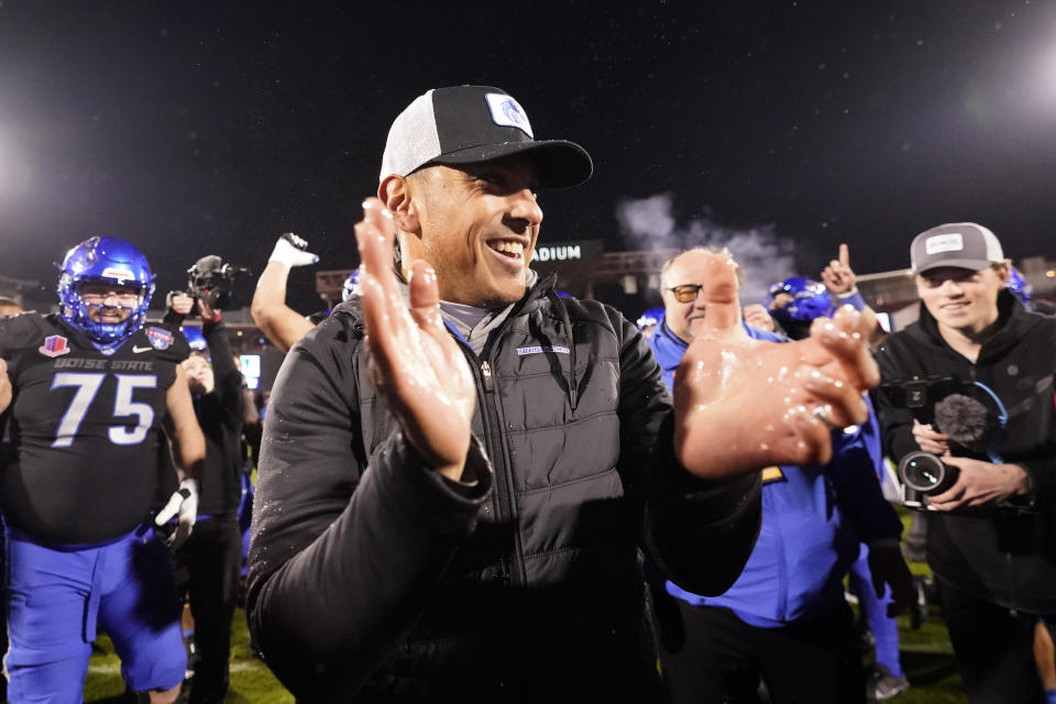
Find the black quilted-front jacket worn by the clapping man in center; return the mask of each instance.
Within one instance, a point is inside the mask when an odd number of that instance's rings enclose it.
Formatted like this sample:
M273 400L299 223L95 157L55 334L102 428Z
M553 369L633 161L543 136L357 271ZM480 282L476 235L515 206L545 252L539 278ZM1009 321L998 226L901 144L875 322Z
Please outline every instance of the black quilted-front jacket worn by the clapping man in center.
M363 336L358 299L336 308L290 351L265 421L249 613L279 679L312 702L649 701L642 526L664 569L722 592L758 530L758 476L680 468L640 333L552 279L480 356L463 346L475 486L404 441Z

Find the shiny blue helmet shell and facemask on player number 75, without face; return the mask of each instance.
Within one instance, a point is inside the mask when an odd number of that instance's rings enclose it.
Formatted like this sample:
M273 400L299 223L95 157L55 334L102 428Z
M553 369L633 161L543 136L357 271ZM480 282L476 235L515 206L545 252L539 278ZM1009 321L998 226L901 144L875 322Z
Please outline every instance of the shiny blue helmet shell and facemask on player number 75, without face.
M85 240L66 253L59 270L58 300L63 318L90 340L101 344L121 342L143 326L154 295L154 274L146 257L132 244L117 238ZM139 292L140 300L123 322L95 322L80 297L80 285L85 282L128 286Z

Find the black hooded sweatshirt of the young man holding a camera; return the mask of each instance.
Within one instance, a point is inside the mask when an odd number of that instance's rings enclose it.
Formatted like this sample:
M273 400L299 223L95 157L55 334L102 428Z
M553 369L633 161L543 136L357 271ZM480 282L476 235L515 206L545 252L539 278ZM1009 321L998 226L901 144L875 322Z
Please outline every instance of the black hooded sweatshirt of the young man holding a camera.
M1025 469L1035 492L1030 513L999 508L982 515L928 512L927 553L935 574L977 596L1028 613L1056 613L1056 319L1027 312L1012 294L999 298L999 329L972 364L943 340L921 305L921 318L877 351L884 384L914 376L981 382L1009 418L996 448ZM909 410L877 394L884 448L898 462L919 450Z

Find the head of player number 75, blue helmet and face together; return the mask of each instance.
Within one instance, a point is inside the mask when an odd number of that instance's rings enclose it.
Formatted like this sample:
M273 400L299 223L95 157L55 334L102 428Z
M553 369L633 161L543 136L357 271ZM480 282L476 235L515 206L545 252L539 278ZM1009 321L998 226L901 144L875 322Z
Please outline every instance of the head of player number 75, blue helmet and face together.
M117 346L143 326L154 274L132 244L117 238L85 240L66 253L61 270L63 318L96 346Z

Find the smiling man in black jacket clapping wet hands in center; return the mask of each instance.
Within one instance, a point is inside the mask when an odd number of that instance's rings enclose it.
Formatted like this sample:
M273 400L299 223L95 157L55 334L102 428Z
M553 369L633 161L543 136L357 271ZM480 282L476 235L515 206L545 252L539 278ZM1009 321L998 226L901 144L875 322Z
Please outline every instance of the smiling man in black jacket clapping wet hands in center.
M265 422L250 623L298 701L656 701L639 544L724 591L758 470L824 461L865 418L857 314L733 355L754 374L732 383L702 342L672 409L634 323L528 266L537 190L592 168L498 88L430 90L393 124L362 294L294 345ZM747 381L782 366L780 393Z

